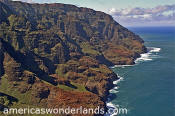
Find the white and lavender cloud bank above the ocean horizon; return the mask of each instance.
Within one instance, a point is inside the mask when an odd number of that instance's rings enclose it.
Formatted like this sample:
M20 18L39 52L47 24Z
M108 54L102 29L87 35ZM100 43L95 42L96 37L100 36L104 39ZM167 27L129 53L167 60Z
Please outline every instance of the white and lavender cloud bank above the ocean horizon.
M137 24L164 24L175 25L175 4L156 6L154 8L125 8L109 10L114 19L124 25Z

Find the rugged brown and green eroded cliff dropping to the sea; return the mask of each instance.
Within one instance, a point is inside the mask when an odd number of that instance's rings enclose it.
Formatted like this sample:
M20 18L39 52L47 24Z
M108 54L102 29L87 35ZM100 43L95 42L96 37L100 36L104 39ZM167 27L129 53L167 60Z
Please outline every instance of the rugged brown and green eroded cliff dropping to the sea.
M21 106L105 107L117 79L108 67L146 52L139 36L103 12L10 0L0 9L0 92L30 98Z

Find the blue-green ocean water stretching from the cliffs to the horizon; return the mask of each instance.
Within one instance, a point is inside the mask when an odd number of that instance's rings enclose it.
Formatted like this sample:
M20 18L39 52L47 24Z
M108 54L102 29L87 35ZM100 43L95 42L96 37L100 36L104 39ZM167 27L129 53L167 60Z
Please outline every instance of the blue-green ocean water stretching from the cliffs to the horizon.
M175 27L132 27L150 50L134 66L113 68L122 80L111 103L127 108L119 116L175 116Z

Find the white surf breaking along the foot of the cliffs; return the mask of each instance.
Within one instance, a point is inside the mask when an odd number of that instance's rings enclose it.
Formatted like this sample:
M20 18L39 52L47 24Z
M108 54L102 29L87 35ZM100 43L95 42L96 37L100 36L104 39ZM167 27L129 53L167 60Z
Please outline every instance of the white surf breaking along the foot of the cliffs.
M136 59L134 60L134 64L133 64L133 65L115 65L115 66L110 67L110 69L117 68L117 67L124 68L124 67L128 67L128 66L135 66L135 65L138 65L140 62L151 61L151 60L152 60L152 58L151 58L152 53L160 52L160 51L161 51L161 48L147 47L147 50L148 50L147 52L140 54L140 57L138 57L138 58L136 58ZM115 73L115 74L116 74L116 73ZM118 84L120 81L123 81L124 78L123 78L122 76L120 76L119 74L116 74L116 75L117 75L118 79L113 80L113 82L111 83L111 84L112 84L112 88L108 90L108 91L109 91L109 94L107 95L107 100L106 100L106 103L105 103L107 109L116 109L116 108L117 108L117 107L111 102L110 97L111 97L112 93L117 93L117 92L119 92L119 91L118 91L118 85L117 85L117 84ZM113 91L113 90L114 90L114 91ZM117 115L117 114L112 114L112 115L111 115L111 114L107 114L107 115L105 115L105 116L115 116L115 115Z

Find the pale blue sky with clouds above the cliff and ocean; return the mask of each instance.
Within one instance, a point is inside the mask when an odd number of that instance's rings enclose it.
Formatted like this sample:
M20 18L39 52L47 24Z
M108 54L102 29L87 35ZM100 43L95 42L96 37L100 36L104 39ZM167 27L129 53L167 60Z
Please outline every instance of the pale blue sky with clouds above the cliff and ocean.
M103 11L123 26L175 26L175 0L14 0L65 3Z

